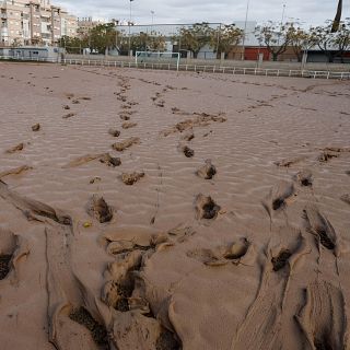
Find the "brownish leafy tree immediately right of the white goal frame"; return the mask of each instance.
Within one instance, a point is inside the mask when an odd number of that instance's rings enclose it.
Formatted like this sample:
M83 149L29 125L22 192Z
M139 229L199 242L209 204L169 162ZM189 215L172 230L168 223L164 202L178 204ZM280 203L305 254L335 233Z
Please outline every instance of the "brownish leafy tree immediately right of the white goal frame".
M212 30L207 22L196 23L191 27L180 27L178 40L179 50L186 49L197 58L200 49L210 43Z

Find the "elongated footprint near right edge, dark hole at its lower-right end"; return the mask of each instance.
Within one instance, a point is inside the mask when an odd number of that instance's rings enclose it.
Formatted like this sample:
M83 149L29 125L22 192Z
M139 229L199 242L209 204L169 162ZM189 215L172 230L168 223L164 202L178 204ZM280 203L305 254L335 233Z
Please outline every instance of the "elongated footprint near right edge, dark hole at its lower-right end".
M325 248L334 250L337 244L337 234L330 222L320 214L317 207L308 205L304 209L306 231L313 234L318 244Z

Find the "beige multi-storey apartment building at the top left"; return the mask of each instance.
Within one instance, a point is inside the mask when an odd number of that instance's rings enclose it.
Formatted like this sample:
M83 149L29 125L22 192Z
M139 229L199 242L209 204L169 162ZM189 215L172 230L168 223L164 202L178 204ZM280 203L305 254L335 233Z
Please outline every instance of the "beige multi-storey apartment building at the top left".
M78 20L49 0L0 0L0 45L55 45L75 36Z

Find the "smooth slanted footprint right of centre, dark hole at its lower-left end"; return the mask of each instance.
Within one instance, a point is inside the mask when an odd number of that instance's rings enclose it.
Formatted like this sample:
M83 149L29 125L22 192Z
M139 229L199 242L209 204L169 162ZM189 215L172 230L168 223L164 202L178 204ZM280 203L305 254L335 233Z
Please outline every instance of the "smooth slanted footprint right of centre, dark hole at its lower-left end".
M287 206L287 201L294 195L294 185L292 183L281 180L275 185L269 196L262 201L264 208L271 215L271 209L277 211Z

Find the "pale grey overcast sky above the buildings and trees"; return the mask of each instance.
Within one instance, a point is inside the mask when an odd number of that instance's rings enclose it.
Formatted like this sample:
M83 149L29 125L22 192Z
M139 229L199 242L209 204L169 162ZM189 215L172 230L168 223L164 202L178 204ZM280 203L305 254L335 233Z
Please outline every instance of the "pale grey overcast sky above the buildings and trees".
M129 19L129 0L51 0L71 13L94 19ZM332 19L337 0L249 0L248 21L281 21L300 19L301 22L322 24ZM350 1L343 1L343 16L350 16ZM132 20L137 24L194 23L244 21L247 0L133 0Z

